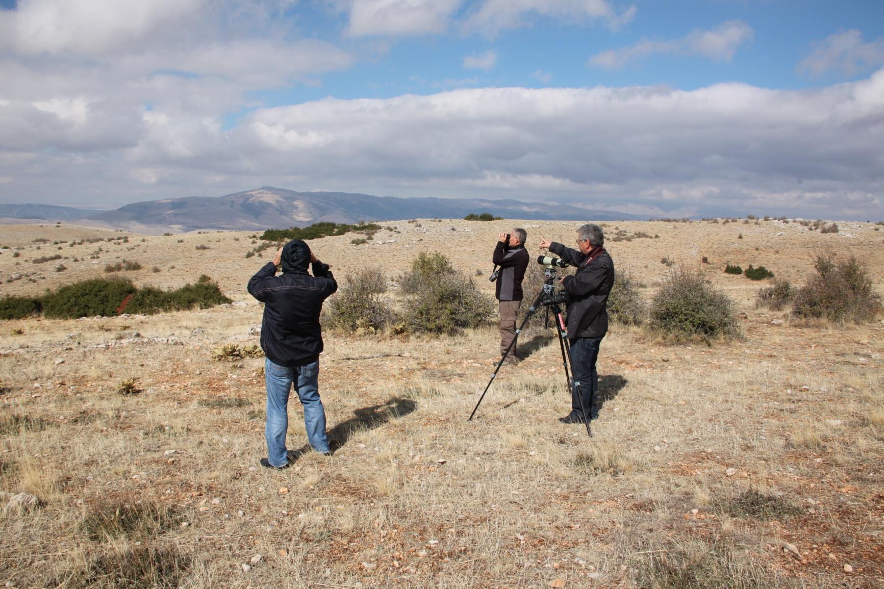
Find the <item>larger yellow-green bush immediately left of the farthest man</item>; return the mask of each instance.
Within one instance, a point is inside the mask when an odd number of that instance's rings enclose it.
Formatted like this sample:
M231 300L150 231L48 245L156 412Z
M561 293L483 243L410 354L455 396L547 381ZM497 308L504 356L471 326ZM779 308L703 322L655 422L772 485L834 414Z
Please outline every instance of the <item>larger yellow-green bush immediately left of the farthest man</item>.
M403 319L410 332L457 333L486 325L495 315L492 299L438 252L419 254L400 285L407 294Z

